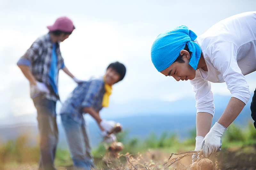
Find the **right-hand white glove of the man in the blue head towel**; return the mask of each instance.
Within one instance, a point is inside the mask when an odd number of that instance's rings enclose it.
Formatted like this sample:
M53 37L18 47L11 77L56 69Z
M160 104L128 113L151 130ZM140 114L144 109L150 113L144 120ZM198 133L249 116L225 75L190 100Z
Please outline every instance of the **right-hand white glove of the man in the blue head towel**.
M223 125L218 122L212 126L211 130L206 134L202 142L201 148L203 148L203 155L205 158L213 152L219 152L221 150L220 137L227 130Z

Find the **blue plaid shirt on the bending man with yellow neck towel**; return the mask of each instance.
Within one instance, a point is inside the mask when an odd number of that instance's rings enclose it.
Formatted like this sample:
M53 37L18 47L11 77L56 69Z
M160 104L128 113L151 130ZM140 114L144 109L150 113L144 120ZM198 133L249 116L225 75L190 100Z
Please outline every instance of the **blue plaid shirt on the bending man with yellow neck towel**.
M74 121L85 126L83 107L92 107L95 111L101 110L104 93L103 78L91 79L79 84L62 105L60 114L69 114Z

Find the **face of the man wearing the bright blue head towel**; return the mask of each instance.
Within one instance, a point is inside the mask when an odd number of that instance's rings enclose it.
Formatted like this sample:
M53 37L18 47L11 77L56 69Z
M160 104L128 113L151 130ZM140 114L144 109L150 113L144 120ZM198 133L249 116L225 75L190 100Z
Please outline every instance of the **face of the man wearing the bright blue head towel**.
M160 72L165 76L172 76L177 81L194 79L196 76L196 70L189 65L189 59L184 56L183 59L185 63L172 63L169 67Z

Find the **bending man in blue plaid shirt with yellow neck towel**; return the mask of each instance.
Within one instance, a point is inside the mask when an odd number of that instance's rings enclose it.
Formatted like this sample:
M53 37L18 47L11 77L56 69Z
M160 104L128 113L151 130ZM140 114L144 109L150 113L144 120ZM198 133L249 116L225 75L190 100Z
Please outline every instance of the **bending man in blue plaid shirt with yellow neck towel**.
M122 63L111 63L105 76L79 84L62 105L61 120L76 170L89 170L90 167L93 167L89 134L83 113L90 114L98 123L102 135L106 136L116 122L102 120L99 111L102 107L108 107L112 85L121 81L125 72L126 69ZM116 136L111 135L106 142L116 140Z

